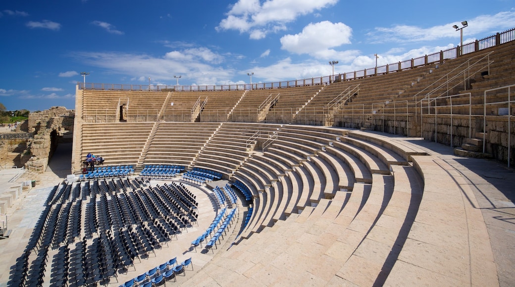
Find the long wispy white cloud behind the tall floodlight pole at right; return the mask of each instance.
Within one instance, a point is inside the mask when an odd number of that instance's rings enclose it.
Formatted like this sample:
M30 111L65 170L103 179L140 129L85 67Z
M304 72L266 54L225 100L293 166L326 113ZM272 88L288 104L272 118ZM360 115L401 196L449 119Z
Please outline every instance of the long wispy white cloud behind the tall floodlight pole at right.
M470 27L463 29L464 35L489 32L492 29L512 28L515 26L515 10L499 12L495 15L479 15L467 22ZM452 28L453 25L462 27L459 22L429 28L396 25L390 28L377 27L367 35L375 43L432 41L459 37L458 32Z

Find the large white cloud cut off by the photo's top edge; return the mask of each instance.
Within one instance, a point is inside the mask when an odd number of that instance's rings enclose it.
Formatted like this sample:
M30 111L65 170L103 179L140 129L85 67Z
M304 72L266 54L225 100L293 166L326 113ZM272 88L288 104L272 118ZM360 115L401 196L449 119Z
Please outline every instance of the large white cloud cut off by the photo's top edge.
M262 39L269 32L285 30L286 23L336 4L338 0L239 0L216 27L248 32L250 39Z

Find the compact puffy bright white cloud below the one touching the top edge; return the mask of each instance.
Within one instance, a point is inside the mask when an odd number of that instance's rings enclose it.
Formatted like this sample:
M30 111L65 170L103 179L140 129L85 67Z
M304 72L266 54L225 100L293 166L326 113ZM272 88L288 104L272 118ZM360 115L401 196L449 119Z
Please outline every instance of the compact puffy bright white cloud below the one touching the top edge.
M352 29L344 23L310 23L298 34L284 35L281 38L281 49L327 59L336 53L329 48L350 44L351 35Z

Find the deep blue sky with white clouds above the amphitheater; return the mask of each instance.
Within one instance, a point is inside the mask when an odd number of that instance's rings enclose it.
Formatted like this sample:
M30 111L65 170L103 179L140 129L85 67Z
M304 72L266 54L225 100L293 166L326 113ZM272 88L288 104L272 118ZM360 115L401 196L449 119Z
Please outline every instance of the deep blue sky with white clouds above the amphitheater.
M90 83L276 82L394 63L515 27L515 1L152 0L0 4L0 102L75 108Z

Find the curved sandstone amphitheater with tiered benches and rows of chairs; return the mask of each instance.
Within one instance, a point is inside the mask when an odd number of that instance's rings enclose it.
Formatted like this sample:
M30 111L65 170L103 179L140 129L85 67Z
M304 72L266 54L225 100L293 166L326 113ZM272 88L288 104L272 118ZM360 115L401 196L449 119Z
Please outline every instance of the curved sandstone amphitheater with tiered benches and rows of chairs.
M8 284L513 285L513 40L278 83L79 83L80 180L42 193ZM81 174L88 153L115 173Z

